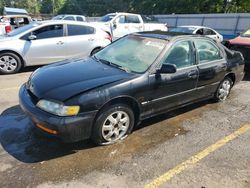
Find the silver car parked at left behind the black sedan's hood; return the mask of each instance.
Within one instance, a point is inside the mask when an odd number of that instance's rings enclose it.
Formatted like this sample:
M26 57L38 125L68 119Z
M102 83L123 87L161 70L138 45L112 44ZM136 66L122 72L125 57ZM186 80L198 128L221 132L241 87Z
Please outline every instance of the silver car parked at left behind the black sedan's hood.
M111 36L90 23L36 22L0 38L0 73L94 54L111 43Z

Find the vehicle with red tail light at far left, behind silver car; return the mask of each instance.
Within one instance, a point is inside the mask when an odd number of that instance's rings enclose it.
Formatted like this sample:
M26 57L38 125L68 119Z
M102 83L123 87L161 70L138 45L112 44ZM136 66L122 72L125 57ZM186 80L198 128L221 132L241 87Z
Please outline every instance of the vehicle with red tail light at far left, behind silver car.
M6 15L0 16L0 35L5 35L14 29L28 25L32 22L27 15Z

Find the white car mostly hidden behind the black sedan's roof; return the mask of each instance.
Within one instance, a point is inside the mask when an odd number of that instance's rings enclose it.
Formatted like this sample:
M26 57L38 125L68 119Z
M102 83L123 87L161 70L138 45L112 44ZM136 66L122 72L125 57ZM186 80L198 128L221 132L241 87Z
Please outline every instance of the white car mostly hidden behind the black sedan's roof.
M181 32L181 33L190 33L196 35L205 35L210 37L216 41L222 42L223 36L215 31L212 28L204 27L204 26L178 26L176 28L171 29L172 32Z

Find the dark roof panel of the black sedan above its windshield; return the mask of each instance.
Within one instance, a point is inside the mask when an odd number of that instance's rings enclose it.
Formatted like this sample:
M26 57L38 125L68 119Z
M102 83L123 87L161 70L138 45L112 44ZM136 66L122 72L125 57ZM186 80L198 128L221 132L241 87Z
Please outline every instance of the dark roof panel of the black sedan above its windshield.
M178 33L178 32L167 32L167 31L146 31L146 32L138 32L134 33L133 35L139 35L143 37L150 37L150 38L157 38L157 39L163 39L163 40L171 40L172 38L176 37L197 37L200 35L194 35L190 33Z

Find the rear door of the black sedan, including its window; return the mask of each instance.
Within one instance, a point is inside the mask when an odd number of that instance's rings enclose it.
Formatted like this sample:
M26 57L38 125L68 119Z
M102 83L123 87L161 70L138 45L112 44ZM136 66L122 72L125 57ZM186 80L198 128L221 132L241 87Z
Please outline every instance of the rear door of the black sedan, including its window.
M208 39L195 39L194 42L198 57L199 96L213 95L226 74L227 61L215 42Z

